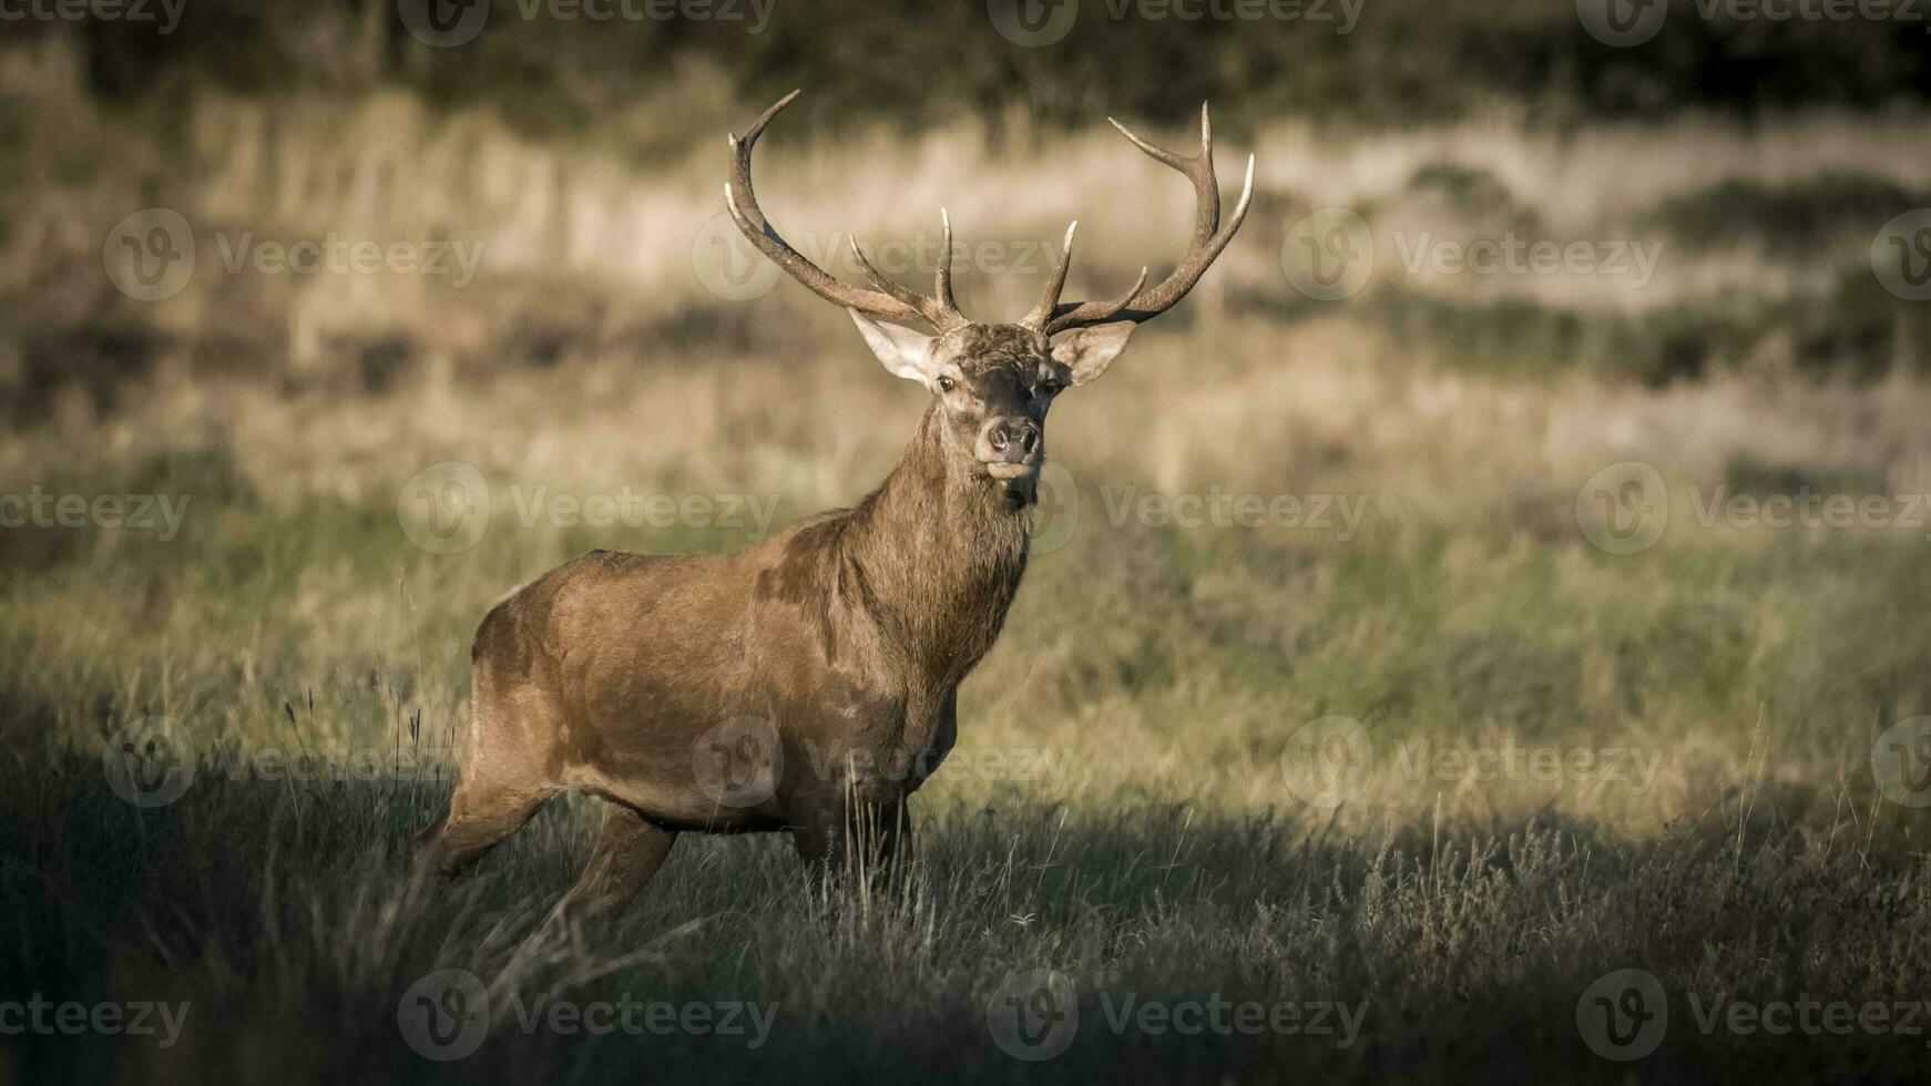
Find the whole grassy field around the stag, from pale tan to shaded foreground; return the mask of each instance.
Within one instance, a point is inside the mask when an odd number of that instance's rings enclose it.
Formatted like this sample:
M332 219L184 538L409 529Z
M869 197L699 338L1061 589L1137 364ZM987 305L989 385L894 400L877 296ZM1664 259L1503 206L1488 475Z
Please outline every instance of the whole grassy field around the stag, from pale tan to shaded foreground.
M413 116L369 110L350 116ZM110 139L97 122L60 139ZM1867 264L1916 199L1925 145L1898 133L1921 125L1271 135L1217 285L1054 411L1037 552L919 793L908 878L811 885L780 839L686 835L635 907L575 928L548 910L589 853L587 802L454 885L409 872L483 611L587 548L726 550L850 503L923 395L796 287L730 301L693 274L709 135L660 177L546 160L575 197L518 203L452 195L436 149L460 127L388 125L386 176L419 203L363 222L301 177L380 147L299 108L270 122L255 150L210 122L145 201L187 208L201 241L170 301L102 276L131 176L58 189L95 233L31 228L66 222L42 203L8 235L8 380L33 409L0 436L0 490L48 513L0 529L0 1003L187 1009L168 1038L0 1036L0 1082L1923 1067L1931 384L1921 303ZM550 154L492 139L467 147ZM944 199L1016 243L1079 214L1093 284L1186 224L1184 193L1099 133L1050 166L933 137L890 201L882 137L794 158L770 139L761 168L805 176L770 185L782 224L882 239ZM1701 166L1537 197L1641 147ZM288 189L249 183L263 149ZM1012 176L1033 183L1008 201ZM1280 253L1329 204L1373 218L1383 270L1315 303ZM463 291L209 264L218 231L427 237L438 206L494 247ZM1155 212L1172 228L1139 228ZM651 243L612 264L618 228ZM1390 270L1427 230L1661 239L1665 258L1641 287ZM964 284L981 314L1033 289L985 272ZM127 339L131 376L83 367ZM481 484L454 534L413 505L450 463ZM73 527L64 496L89 503ZM653 496L678 511L583 523ZM1805 496L1840 503L1765 523ZM153 718L193 760L141 806L114 766ZM475 978L460 1003L440 970ZM487 1028L411 1032L423 978ZM595 1032L624 1001L637 1032ZM1777 1032L1778 1001L1887 1017L1798 1009ZM1603 1007L1634 1011L1605 1026Z

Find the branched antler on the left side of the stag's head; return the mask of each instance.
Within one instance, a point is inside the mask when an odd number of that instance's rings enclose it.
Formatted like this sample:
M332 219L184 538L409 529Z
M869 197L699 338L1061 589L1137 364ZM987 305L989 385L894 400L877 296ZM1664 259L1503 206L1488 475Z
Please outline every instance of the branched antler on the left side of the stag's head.
M774 106L765 110L757 122L745 129L743 139L732 135L732 164L730 181L724 183L724 204L730 206L732 222L743 231L751 245L757 245L759 253L770 257L774 264L784 268L794 280L805 284L811 293L823 297L825 301L857 309L859 312L869 312L871 316L884 316L888 320L923 320L935 332L952 332L954 328L964 328L969 324L966 314L960 312L958 303L952 301L952 218L940 210L940 218L946 224L944 253L938 255L938 272L935 276L935 295L925 297L906 287L894 284L892 280L879 274L871 266L871 260L857 247L857 239L852 239L852 255L857 257L857 266L865 272L865 278L879 289L863 289L838 282L834 276L819 268L803 257L798 249L792 249L778 231L770 228L765 220L765 212L757 208L757 193L751 191L751 147L757 137L763 135L765 125L770 118L778 116L778 110L792 104L799 93L778 98Z

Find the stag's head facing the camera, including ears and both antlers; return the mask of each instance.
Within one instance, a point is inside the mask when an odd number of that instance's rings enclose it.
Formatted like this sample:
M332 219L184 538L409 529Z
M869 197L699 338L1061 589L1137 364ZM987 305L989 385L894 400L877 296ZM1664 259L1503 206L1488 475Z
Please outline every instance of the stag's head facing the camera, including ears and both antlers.
M1193 183L1197 210L1193 239L1170 276L1151 291L1147 270L1130 291L1114 301L1060 301L1072 264L1074 222L1066 228L1060 258L1047 278L1039 303L1016 324L967 320L952 299L952 220L944 222L942 255L933 295L913 293L873 268L852 239L852 257L871 287L848 285L792 249L765 220L751 189L751 149L770 118L788 106L798 91L778 98L743 133L730 137L732 172L724 203L751 245L819 297L846 307L852 320L884 368L923 384L935 397L946 442L946 455L969 473L998 480L1008 490L1029 494L1047 459L1047 409L1068 386L1097 380L1126 347L1133 328L1172 309L1226 249L1240 230L1253 197L1253 156L1247 181L1232 218L1220 222L1220 187L1213 174L1213 129L1201 104L1201 149L1182 156L1153 147L1112 122L1120 133L1155 160L1178 170ZM1108 118L1110 120L1110 118ZM925 334L913 324L925 326ZM1058 341L1054 341L1058 338Z

